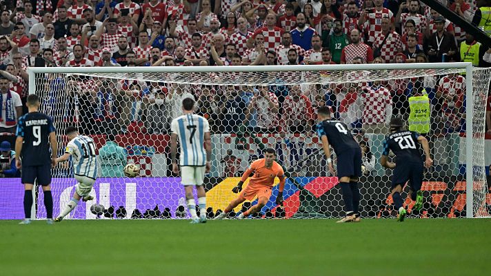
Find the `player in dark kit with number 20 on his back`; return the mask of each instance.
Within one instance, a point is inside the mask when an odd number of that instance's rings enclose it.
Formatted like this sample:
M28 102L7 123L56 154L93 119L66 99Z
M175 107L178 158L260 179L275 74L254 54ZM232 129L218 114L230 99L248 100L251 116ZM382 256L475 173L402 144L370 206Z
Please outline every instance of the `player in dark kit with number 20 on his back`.
M409 180L410 197L414 204L414 209L421 210L423 207L423 193L421 185L423 183L423 159L421 152L417 147L417 141L425 152L425 166L430 168L433 160L430 158L430 146L428 140L419 135L418 132L404 130L403 121L399 118L394 118L390 121L391 134L385 137L383 141L383 152L380 158L380 164L385 168L393 168L394 175L392 176L392 199L394 206L399 210L397 221L404 221L406 210L403 207L401 192L403 186ZM397 157L396 163L388 161L389 150L394 152Z

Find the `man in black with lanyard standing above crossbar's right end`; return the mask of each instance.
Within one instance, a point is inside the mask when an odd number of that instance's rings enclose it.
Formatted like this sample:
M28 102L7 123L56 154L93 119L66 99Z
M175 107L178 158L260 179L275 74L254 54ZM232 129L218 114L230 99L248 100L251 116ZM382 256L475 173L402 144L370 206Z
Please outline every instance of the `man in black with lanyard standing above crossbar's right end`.
M444 29L445 19L436 17L434 24L437 26L437 32L425 40L424 49L428 59L430 62L458 61L454 36Z

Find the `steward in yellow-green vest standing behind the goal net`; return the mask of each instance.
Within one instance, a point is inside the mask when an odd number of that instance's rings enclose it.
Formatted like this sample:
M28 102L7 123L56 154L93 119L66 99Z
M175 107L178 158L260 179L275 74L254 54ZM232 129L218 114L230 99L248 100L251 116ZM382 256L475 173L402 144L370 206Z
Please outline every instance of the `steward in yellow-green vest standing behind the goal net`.
M414 88L414 96L409 97L409 130L420 134L430 132L430 98L424 88Z

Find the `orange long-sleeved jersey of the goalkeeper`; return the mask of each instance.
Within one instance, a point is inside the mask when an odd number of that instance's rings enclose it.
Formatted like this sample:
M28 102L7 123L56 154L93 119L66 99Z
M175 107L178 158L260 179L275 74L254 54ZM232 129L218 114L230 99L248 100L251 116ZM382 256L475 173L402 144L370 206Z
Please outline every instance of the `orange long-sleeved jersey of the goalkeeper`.
M252 162L250 167L242 175L241 181L246 181L251 172L254 172L254 175L252 175L249 181L250 186L272 187L274 184L274 177L278 177L280 181L279 190L283 191L283 187L285 186L285 173L283 172L283 168L281 168L276 161L273 161L271 168L266 168L265 163L266 160L264 158Z

